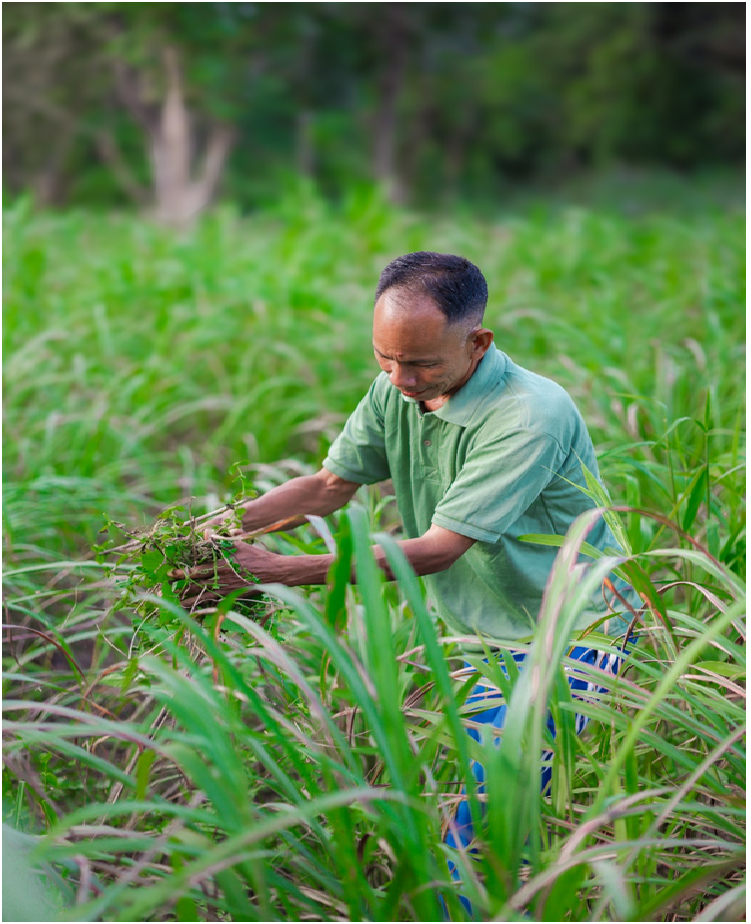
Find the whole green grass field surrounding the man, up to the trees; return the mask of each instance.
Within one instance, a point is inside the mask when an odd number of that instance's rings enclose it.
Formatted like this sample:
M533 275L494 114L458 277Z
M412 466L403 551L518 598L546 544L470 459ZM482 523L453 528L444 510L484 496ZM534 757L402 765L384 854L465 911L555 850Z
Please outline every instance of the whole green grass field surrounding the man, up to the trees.
M303 195L184 234L6 209L4 837L17 881L45 886L27 914L440 920L442 896L463 920L441 827L482 758L487 824L458 858L482 919L743 919L744 216L687 199L480 220ZM377 372L378 274L418 249L482 268L497 344L570 391L627 508L644 644L578 707L597 719L581 740L562 665L589 586L566 556L525 643L561 667L532 689L481 665L510 700L483 751L420 582L392 550L402 580L384 584L370 556L395 518L377 489L329 519L332 540L269 540L333 541L344 564L259 621L198 624L159 598L148 620L115 611L133 562L91 551L105 514L215 509L234 463L261 490L314 470Z

